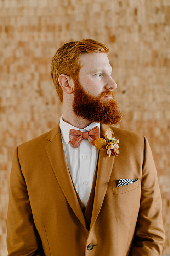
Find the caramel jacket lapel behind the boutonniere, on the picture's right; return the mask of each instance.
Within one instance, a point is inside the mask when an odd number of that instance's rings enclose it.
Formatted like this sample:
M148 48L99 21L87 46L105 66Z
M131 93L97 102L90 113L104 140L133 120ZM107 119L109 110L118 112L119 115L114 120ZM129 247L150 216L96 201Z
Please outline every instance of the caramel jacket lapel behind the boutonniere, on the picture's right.
M108 126L102 125L101 127L101 138L104 138L104 134L106 132L106 129ZM92 212L92 218L91 218L91 224L90 224L90 230L92 226L94 225L97 216L100 212L100 209L102 207L102 203L106 194L106 190L108 187L108 183L111 177L113 164L114 164L114 158L115 156L111 155L109 156L106 154L106 151L99 152L99 158L98 158L98 170L97 170L97 180L96 180L96 187L95 187L95 197L94 197L94 207Z

